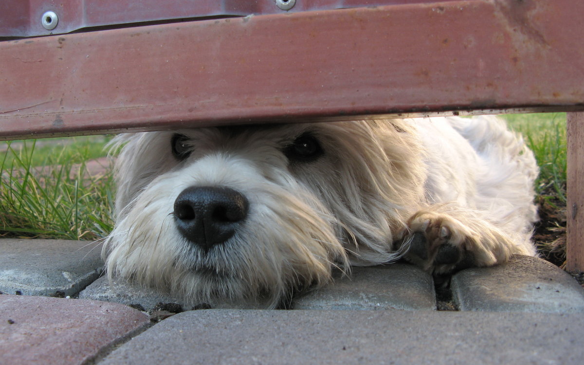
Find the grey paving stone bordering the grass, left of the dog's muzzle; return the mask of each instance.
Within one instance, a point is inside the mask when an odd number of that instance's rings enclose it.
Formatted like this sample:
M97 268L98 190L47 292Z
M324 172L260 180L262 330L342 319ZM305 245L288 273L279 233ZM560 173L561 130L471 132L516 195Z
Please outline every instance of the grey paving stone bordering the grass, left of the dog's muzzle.
M64 239L0 239L0 291L73 296L102 272L101 247Z

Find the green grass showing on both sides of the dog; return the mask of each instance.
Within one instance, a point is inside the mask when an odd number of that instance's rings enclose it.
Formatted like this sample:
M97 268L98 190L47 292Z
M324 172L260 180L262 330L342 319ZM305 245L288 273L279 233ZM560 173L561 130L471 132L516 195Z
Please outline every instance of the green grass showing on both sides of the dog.
M565 113L509 114L509 125L526 138L541 173L538 201L565 206ZM74 164L103 157L109 137L0 142L0 236L98 239L112 228L113 179L107 173L69 173ZM40 171L37 166L58 166Z

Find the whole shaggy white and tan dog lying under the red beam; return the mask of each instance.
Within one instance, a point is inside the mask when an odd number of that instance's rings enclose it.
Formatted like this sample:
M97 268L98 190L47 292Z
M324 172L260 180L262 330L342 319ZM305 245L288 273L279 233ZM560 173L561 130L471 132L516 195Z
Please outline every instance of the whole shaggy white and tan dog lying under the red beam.
M538 170L495 117L120 135L117 276L193 303L275 307L333 266L434 274L534 255Z

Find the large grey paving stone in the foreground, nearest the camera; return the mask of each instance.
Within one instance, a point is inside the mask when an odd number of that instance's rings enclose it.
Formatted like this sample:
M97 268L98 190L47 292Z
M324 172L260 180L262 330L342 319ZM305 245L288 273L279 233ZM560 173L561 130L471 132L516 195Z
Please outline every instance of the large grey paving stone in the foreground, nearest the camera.
M203 310L165 319L100 365L579 365L583 337L577 314Z

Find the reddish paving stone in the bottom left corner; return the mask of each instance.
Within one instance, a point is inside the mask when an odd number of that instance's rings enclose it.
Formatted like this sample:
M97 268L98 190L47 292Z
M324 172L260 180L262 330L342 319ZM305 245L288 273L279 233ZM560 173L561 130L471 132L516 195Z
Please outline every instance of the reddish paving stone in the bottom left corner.
M1 364L81 364L150 323L117 303L0 295Z

